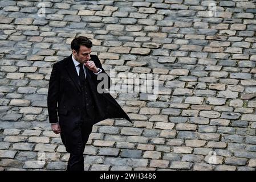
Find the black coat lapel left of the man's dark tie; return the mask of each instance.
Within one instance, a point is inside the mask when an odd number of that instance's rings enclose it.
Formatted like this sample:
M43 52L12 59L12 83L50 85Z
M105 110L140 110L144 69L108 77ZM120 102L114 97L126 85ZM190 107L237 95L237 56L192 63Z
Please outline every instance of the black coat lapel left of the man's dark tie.
M79 76L76 72L76 68L71 56L68 57L68 59L66 60L65 68L67 69L67 72L70 75L72 81L74 82L76 88L79 90L79 92L82 92L80 88Z

